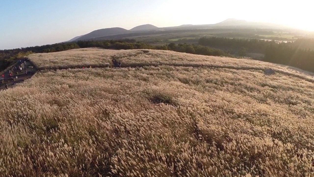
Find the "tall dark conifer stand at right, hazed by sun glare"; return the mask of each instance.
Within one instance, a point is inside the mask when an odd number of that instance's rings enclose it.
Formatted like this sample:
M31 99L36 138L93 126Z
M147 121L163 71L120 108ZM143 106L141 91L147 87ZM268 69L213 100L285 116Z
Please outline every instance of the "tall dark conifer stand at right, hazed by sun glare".
M199 44L238 51L264 54L263 61L297 67L314 72L314 39L297 39L295 42L276 43L274 40L202 37ZM232 51L232 52L230 52Z

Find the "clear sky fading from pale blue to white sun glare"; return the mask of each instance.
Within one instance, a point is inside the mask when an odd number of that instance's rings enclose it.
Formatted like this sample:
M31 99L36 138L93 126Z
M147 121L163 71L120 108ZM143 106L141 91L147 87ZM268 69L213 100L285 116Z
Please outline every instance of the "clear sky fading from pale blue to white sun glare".
M0 0L0 49L64 42L102 28L214 24L228 18L314 31L313 5L309 0Z

